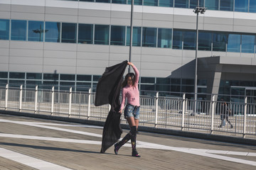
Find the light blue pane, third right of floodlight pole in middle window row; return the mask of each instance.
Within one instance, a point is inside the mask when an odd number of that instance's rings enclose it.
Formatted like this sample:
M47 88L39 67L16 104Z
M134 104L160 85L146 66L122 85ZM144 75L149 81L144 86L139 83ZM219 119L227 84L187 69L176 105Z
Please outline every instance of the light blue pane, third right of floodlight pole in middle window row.
M241 35L228 34L228 52L240 52Z

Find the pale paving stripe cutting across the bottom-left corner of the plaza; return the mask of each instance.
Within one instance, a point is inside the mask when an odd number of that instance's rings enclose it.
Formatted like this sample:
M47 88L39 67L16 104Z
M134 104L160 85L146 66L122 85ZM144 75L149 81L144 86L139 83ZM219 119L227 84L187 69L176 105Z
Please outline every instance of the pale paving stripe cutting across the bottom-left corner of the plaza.
M35 169L48 169L48 170L71 170L65 168L64 166L59 166L57 164L53 164L50 162L43 161L41 159L36 159L33 157L29 157L25 154L20 154L18 152L13 152L8 149L4 149L0 147L0 157L4 157L6 159L11 159L14 162L18 162L21 164L25 164L26 166L31 166Z

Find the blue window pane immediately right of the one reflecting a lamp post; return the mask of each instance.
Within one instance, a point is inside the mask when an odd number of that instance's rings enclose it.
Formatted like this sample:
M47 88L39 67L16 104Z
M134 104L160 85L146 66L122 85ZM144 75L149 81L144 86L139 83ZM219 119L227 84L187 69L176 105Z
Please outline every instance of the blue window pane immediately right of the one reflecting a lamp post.
M46 42L60 42L60 23L46 22Z

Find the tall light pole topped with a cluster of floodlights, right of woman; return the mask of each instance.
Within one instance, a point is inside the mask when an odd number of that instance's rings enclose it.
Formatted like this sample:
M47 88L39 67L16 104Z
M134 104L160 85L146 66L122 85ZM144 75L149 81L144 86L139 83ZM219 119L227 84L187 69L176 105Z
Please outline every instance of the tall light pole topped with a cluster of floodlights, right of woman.
M194 13L196 13L196 64L195 64L195 106L194 106L194 115L196 115L197 113L197 62L198 62L198 59L197 59L197 53L198 53L198 13L205 13L206 12L206 8L205 7L201 7L199 6L199 0L198 0L198 3L197 3L197 6L196 8L194 8L193 10Z

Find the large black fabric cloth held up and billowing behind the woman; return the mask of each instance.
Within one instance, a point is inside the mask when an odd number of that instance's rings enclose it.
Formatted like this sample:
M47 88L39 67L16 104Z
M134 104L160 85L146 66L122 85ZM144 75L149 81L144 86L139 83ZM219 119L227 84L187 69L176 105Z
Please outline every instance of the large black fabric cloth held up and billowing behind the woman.
M95 106L102 106L107 103L111 105L102 133L102 148L100 150L102 153L114 145L122 135L121 114L118 112L120 109L119 95L126 67L127 60L107 67L97 84Z

